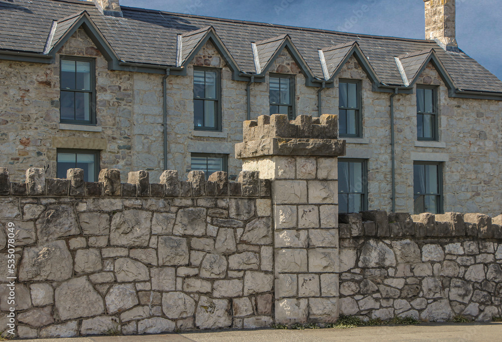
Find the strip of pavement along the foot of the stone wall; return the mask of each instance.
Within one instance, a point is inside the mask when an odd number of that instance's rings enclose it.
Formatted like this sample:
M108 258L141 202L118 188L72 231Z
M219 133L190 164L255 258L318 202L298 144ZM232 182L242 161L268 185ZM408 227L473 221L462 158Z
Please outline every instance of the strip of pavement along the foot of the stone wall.
M422 323L315 330L212 330L142 336L30 339L32 342L502 341L502 323Z

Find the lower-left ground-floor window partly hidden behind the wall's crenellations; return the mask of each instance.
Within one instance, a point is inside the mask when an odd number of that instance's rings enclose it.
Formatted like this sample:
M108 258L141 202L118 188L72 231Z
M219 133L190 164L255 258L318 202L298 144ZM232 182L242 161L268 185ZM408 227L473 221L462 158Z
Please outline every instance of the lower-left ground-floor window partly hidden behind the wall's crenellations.
M97 182L99 174L99 151L87 149L57 150L57 178L66 178L69 168L84 170L84 182Z

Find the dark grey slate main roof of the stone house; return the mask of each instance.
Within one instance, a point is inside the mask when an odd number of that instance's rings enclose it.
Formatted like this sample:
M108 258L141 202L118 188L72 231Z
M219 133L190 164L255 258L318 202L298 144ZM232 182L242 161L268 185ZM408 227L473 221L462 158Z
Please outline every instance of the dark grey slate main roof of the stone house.
M177 35L214 28L240 71L255 73L252 42L288 35L307 66L323 79L318 49L358 43L386 85L404 85L395 57L434 49L461 90L502 92L502 82L463 52L444 51L436 42L348 34L121 7L123 18L103 16L92 2L0 0L0 49L42 54L53 21L86 11L118 57L129 63L176 66ZM193 37L195 40L196 37ZM193 45L196 45L194 42ZM326 51L326 50L325 50ZM1 50L0 50L1 52ZM187 52L183 51L183 56Z

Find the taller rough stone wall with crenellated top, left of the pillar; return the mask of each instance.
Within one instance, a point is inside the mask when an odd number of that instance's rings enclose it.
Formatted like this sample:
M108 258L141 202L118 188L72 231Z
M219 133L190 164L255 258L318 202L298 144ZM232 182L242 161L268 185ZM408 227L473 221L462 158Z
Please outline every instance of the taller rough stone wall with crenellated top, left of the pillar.
M84 183L81 169L46 179L27 172L10 183L0 168L0 248L15 225L16 315L20 337L159 333L273 322L270 183L242 172L180 182L164 172L104 169ZM0 280L7 326L7 279ZM6 332L4 332L5 334Z

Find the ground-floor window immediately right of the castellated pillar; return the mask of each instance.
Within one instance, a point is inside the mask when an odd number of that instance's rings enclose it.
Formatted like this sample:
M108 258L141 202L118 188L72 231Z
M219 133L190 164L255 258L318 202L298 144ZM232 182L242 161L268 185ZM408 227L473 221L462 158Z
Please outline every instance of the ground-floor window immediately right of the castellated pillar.
M338 211L367 209L367 166L364 159L338 159Z

